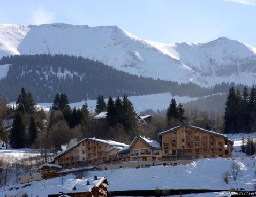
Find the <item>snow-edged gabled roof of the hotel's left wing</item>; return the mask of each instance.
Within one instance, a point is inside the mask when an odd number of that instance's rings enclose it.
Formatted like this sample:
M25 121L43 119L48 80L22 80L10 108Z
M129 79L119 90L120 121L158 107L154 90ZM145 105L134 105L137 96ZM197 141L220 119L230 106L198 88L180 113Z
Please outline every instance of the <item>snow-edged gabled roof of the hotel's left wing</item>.
M76 144L74 144L73 146L71 146L70 148L62 151L60 154L58 154L57 156L54 157L54 160L52 162L54 162L56 160L56 158L58 158L59 156L66 154L69 150L73 149L74 147L77 147L80 145L80 143L85 142L86 140L91 140L91 141L96 141L96 142L101 142L101 143L105 143L107 145L111 145L111 146L119 146L119 147L126 147L128 145L126 145L125 143L121 143L121 142L116 142L116 141L112 141L112 140L101 140L101 139L97 139L97 138L85 138L82 139L81 141L77 142Z

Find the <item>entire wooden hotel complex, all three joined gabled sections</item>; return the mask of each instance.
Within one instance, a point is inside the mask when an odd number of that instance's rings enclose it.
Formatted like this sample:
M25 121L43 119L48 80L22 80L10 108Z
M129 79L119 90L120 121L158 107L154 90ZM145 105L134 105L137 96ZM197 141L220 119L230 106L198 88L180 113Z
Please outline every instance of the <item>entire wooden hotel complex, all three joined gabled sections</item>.
M63 151L53 163L63 169L124 161L174 161L231 157L233 142L225 135L194 126L178 126L159 133L159 140L137 135L132 143L86 138Z

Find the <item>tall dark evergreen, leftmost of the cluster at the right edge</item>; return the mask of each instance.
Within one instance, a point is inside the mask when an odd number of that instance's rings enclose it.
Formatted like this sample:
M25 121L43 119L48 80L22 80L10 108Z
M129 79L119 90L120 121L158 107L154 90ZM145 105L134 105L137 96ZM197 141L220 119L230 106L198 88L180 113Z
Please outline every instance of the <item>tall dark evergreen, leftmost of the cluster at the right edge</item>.
M225 105L224 133L237 133L238 99L234 87L229 89L229 94Z

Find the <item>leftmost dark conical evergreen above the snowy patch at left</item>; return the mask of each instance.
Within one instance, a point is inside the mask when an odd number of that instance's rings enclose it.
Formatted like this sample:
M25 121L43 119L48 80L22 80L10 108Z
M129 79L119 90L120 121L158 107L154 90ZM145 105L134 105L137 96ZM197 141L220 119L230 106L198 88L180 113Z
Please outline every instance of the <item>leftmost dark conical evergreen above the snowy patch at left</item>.
M17 112L14 116L13 127L9 138L9 143L12 148L26 147L26 126L20 112Z

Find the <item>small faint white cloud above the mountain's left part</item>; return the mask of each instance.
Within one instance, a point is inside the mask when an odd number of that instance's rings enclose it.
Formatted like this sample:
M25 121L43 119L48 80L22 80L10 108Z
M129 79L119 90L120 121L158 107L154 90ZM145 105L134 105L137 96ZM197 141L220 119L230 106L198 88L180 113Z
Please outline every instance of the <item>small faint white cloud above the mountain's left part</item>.
M43 7L39 7L39 9L32 11L32 24L40 25L50 23L54 19L54 16L54 12L50 12Z

